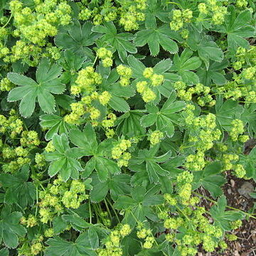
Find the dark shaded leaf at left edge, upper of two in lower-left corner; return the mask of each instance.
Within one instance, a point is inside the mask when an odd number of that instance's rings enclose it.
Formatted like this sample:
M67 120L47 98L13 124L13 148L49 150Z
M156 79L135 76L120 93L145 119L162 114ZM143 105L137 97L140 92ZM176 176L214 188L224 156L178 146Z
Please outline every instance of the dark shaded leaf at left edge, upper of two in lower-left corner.
M27 182L28 178L27 164L15 174L0 174L0 183L6 191L4 197L6 203L17 203L22 208L33 205L36 200L36 186L32 182Z

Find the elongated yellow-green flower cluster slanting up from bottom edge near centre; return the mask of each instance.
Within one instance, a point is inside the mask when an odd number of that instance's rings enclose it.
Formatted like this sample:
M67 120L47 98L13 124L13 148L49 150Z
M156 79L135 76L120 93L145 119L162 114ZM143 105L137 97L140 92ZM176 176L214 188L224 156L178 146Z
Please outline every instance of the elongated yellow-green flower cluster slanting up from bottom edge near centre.
M128 224L119 225L117 230L112 230L107 236L104 245L105 247L97 250L99 256L122 256L121 240L131 233L132 228Z

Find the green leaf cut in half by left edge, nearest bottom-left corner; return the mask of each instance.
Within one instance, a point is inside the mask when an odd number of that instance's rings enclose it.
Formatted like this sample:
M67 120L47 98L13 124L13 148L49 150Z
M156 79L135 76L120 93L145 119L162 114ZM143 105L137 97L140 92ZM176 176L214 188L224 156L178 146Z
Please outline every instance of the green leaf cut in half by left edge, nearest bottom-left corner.
M9 206L4 206L0 220L0 241L4 240L4 245L10 248L18 246L18 236L26 234L26 228L19 224L22 214L12 212Z

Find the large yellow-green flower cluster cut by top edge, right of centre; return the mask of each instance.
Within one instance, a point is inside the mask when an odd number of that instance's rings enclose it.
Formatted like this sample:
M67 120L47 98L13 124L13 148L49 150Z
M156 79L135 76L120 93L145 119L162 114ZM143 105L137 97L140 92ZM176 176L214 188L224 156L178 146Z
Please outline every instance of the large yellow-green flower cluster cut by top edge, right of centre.
M200 13L198 16L199 20L209 16L212 23L215 25L222 24L224 22L225 14L228 13L227 7L222 6L220 1L217 0L208 0L198 4L198 11Z

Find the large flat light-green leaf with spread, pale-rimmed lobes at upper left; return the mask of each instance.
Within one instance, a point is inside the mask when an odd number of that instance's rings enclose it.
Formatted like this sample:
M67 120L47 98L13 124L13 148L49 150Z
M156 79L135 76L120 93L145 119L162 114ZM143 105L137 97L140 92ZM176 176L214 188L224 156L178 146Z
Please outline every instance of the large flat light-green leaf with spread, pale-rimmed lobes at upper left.
M16 85L9 92L7 100L15 102L21 100L19 110L23 117L30 117L36 107L36 99L39 106L46 113L55 111L54 94L61 94L65 90L65 85L60 82L61 68L58 65L50 65L50 60L43 58L36 70L37 82L24 75L8 73L8 78Z

